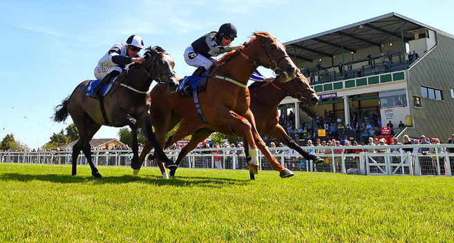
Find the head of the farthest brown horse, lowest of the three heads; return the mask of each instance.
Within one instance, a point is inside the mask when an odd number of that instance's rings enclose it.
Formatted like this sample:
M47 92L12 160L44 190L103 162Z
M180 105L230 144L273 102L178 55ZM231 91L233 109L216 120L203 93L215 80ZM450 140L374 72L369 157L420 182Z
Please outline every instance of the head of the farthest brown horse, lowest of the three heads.
M283 77L274 79L273 84L287 92L287 95L298 99L309 107L315 107L319 103L319 96L310 88L309 81L301 74L296 72L296 77L290 81L285 81Z

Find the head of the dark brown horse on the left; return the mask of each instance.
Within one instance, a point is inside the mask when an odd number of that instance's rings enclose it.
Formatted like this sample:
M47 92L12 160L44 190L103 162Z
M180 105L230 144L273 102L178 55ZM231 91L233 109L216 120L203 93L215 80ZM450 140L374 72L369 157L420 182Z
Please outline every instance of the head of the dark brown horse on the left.
M175 63L172 57L159 46L146 48L145 58L152 60L151 77L158 82L158 85L166 86L169 93L175 93L178 88L178 79L173 67ZM145 63L144 63L145 64Z

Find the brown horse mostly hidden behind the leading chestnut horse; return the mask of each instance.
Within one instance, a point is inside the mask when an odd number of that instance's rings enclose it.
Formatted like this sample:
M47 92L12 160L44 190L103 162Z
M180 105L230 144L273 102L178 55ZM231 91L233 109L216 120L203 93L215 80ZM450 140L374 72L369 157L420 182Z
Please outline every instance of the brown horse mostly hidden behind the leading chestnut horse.
M276 92L276 90L279 92ZM287 135L287 133L285 133L285 130L278 123L278 105L287 96L298 99L310 107L317 105L319 97L316 95L315 91L310 88L308 79L298 72L296 77L291 81L286 82L282 77L279 77L278 79L274 79L272 83L263 83L260 86L249 86L249 93L252 94L250 109L254 114L256 128L259 134L278 139L278 141L281 141L290 148L298 151L305 159L312 159L314 163L324 162L320 157L303 150ZM178 166L187 153L196 148L198 142L207 138L215 131L234 137L243 137L240 129L233 127L232 130L229 126L225 125L199 129L196 133L192 134L189 144L182 148L178 154L176 165ZM247 149L247 145L245 145L245 148ZM144 152L142 151L142 153ZM150 155L149 159L154 159L154 157ZM170 175L175 175L175 171L170 171Z

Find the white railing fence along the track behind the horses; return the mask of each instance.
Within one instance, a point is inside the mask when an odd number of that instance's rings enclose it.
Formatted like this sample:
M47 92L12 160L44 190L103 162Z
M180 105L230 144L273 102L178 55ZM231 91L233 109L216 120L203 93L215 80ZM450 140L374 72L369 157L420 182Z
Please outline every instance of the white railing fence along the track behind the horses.
M390 145L390 146L323 146L301 147L305 150L336 149L395 149L397 153L316 153L323 164L313 164L297 153L288 153L290 148L269 148L280 164L292 171L347 173L348 169L359 169L361 175L433 175L452 176L454 170L454 153L439 153L437 148L454 147L451 144L419 144L419 145ZM433 153L403 152L402 148L428 148ZM222 154L211 153L212 150L222 150ZM182 168L218 168L247 170L244 148L207 148L196 149L187 155L180 167ZM176 160L180 150L165 150L167 156ZM32 163L32 164L71 164L70 151L62 152L0 152L2 163ZM93 150L92 158L97 166L129 166L131 150ZM272 171L271 166L259 151L259 168L261 171ZM88 164L81 153L77 164ZM157 167L156 160L144 162L143 166Z

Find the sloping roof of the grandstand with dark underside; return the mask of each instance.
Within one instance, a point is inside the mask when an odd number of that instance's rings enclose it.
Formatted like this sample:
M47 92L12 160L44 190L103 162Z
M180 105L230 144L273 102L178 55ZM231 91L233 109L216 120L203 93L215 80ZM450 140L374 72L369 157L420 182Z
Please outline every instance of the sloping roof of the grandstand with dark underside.
M402 30L400 28L400 20L402 22ZM334 30L328 30L294 41L287 41L283 44L287 48L287 53L290 57L313 61L341 54L342 44L344 52L356 52L372 46L380 47L382 43L399 41L401 39L401 31L404 34L404 41L408 42L415 39L415 36L409 32L422 28L441 32L454 38L453 35L427 26L424 23L419 23L396 12L390 12Z

